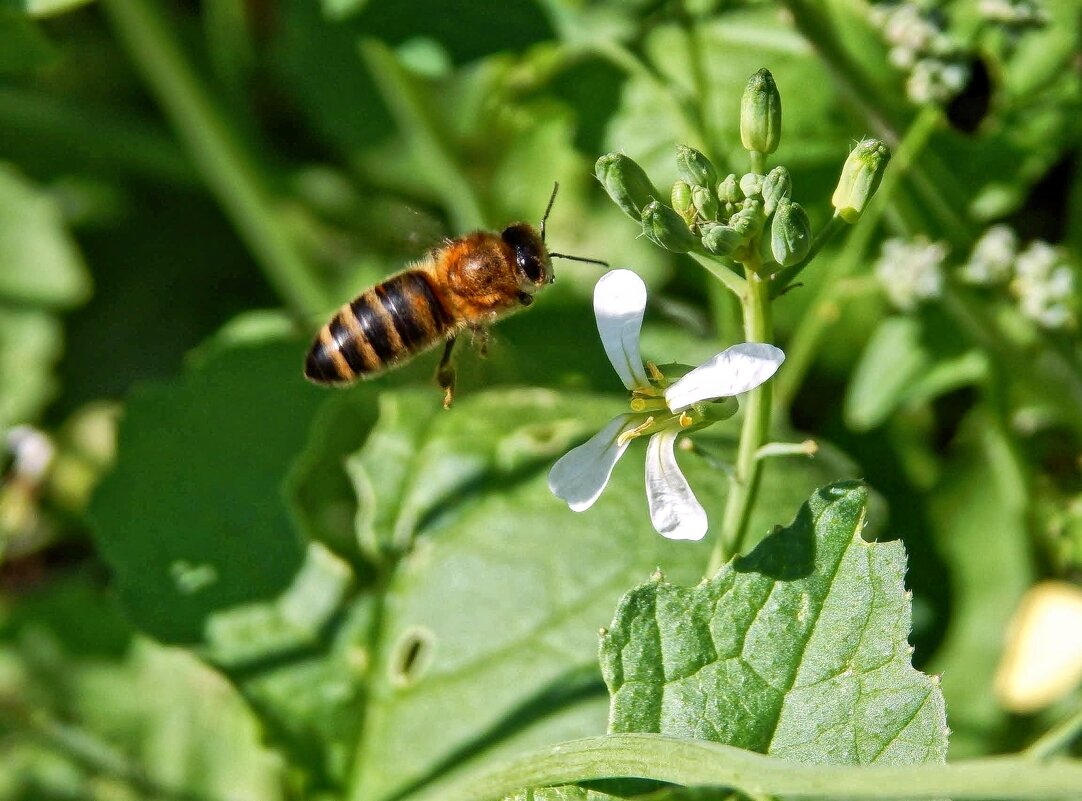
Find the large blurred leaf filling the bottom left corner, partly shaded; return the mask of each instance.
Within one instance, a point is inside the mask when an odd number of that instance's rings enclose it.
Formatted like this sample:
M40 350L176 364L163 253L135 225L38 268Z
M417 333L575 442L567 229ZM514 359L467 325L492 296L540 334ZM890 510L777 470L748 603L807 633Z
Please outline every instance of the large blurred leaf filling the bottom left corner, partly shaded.
M282 764L236 691L190 654L133 636L96 570L53 574L4 603L0 736L5 800L174 797L136 792L147 783L281 797Z

